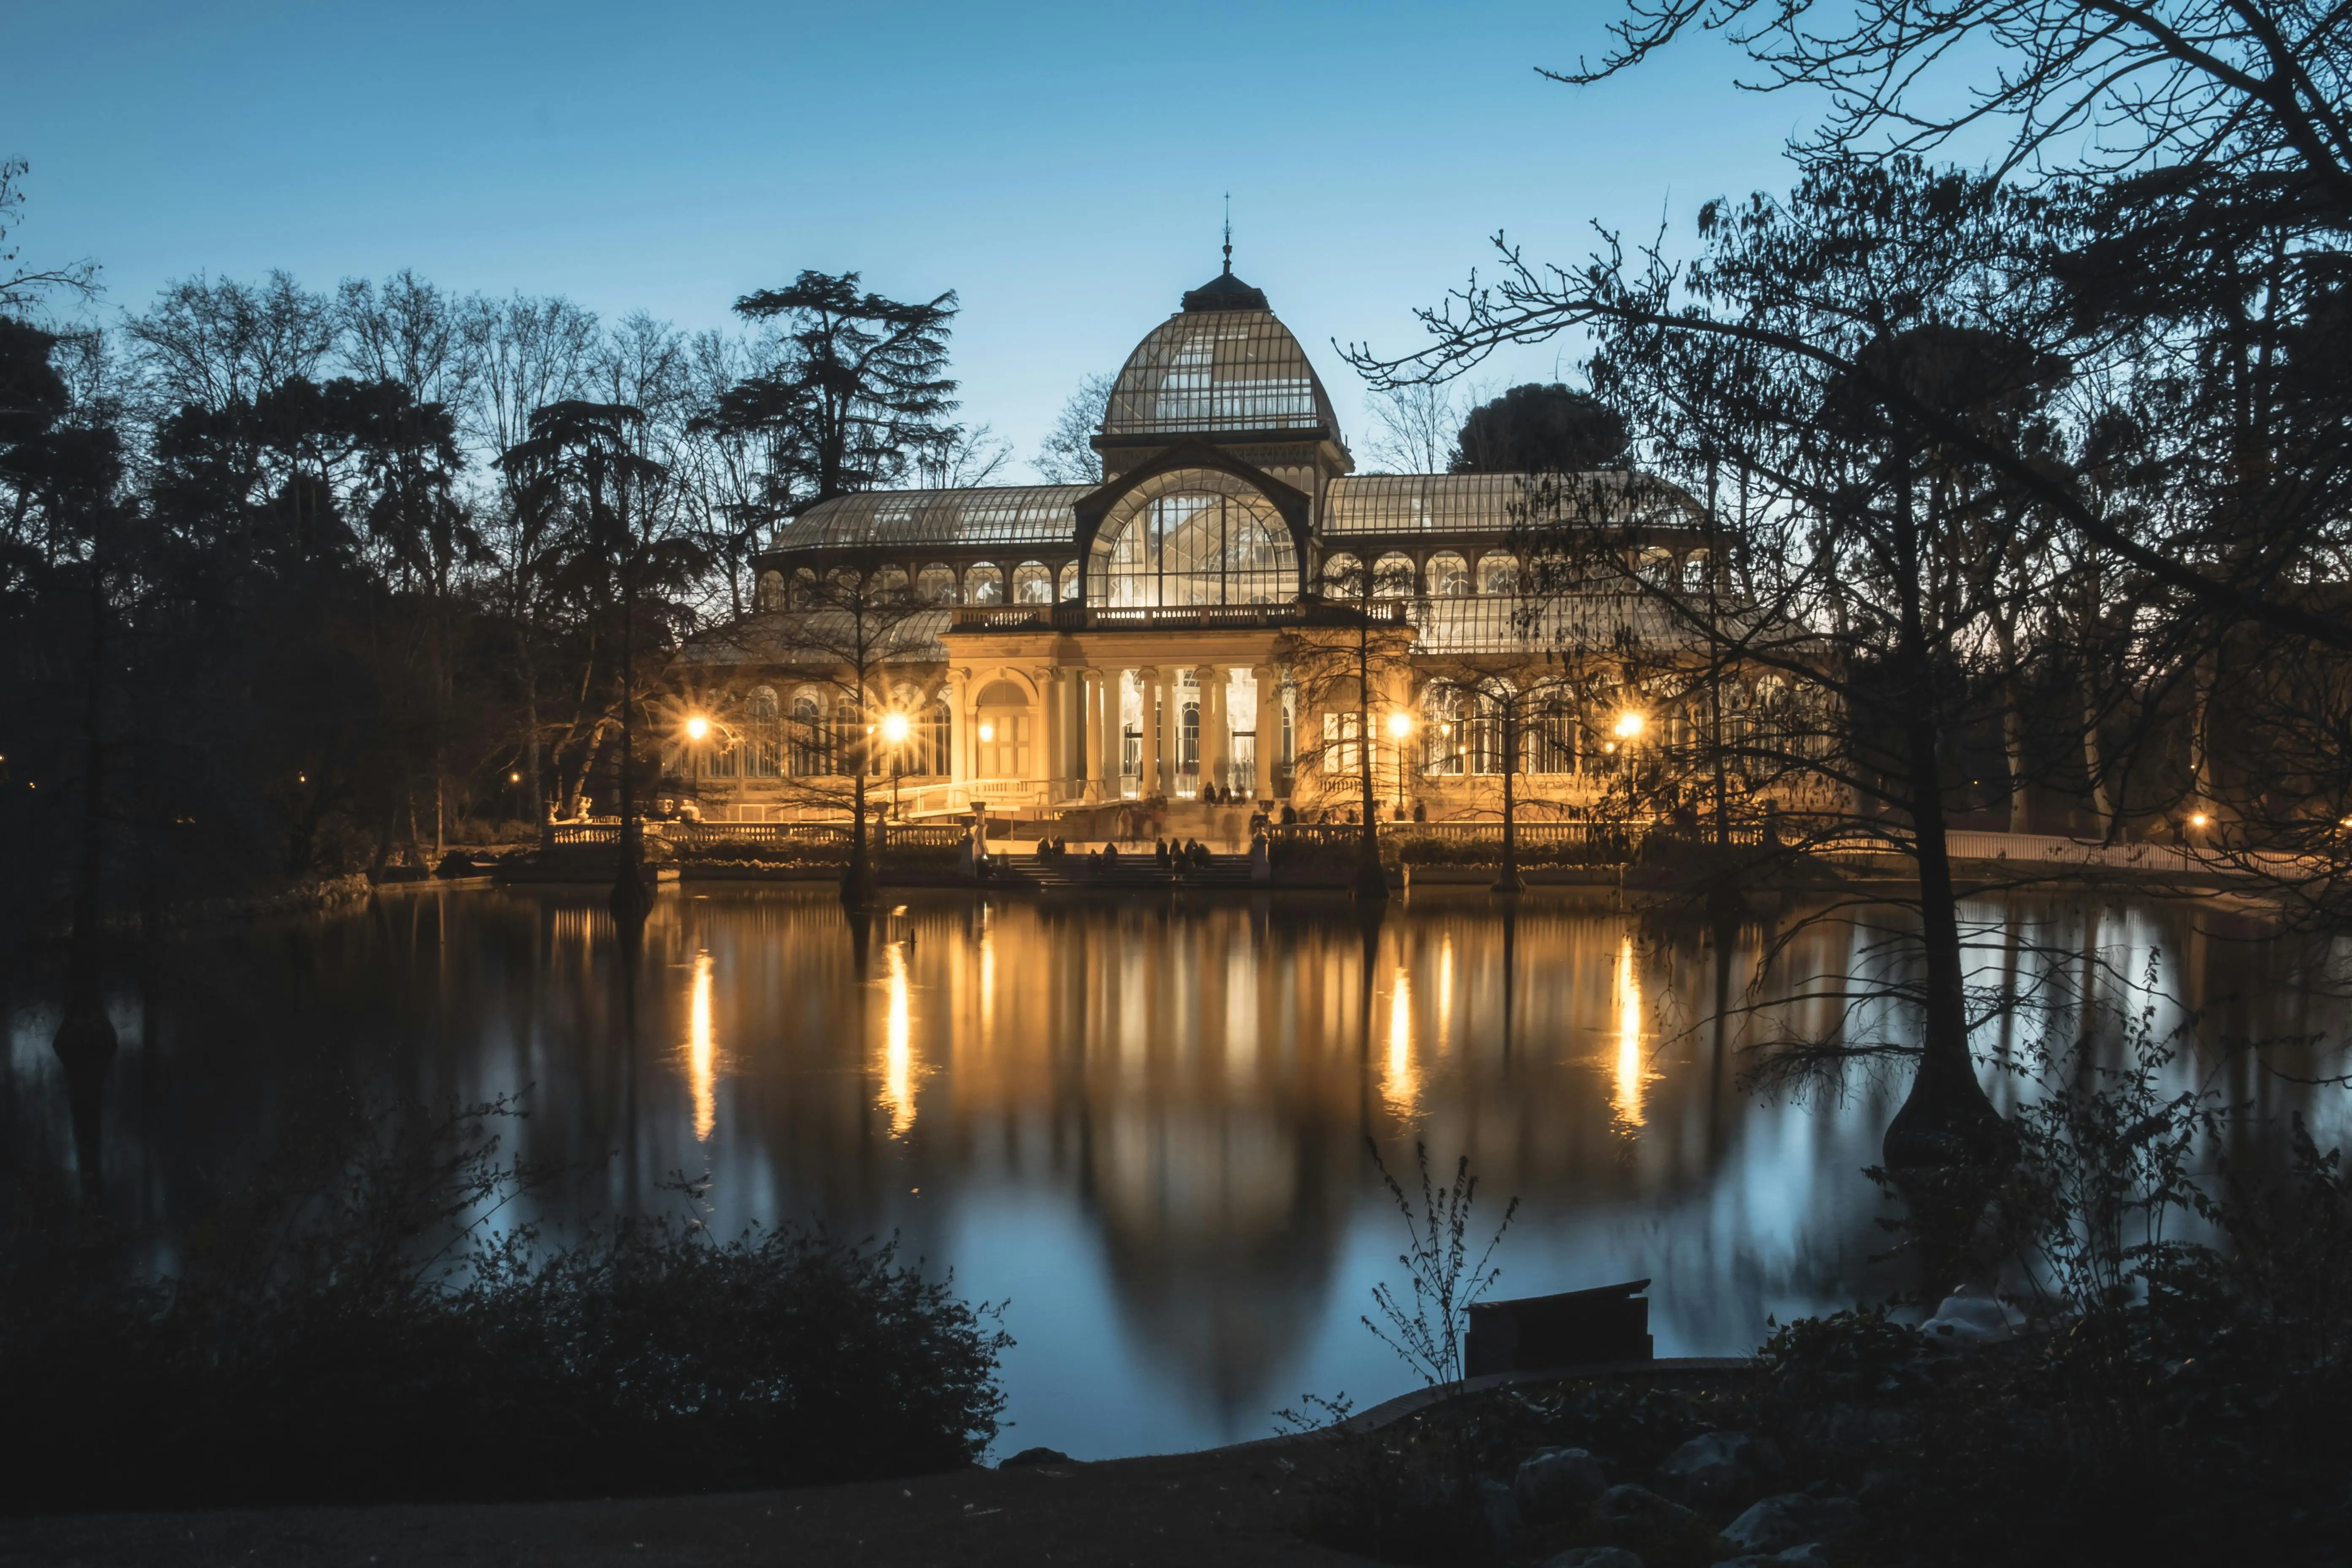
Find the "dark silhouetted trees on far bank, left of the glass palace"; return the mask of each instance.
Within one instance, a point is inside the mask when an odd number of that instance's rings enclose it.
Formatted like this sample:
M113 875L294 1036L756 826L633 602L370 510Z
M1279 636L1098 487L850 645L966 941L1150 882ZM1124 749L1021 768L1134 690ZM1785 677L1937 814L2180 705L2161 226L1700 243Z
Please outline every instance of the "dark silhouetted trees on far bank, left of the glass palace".
M748 609L750 552L797 505L1004 458L948 418L955 296L854 273L699 334L414 273L195 277L54 324L87 282L0 287L19 919L59 914L89 858L134 905L609 802L623 649L659 672Z

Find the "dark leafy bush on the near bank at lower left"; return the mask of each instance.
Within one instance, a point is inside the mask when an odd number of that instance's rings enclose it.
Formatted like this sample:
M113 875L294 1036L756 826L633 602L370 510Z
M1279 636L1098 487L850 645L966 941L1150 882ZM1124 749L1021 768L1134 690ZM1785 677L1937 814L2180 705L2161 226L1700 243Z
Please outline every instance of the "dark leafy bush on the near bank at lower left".
M1009 1345L988 1307L823 1229L494 1237L480 1220L532 1180L496 1159L506 1114L346 1100L167 1279L111 1237L19 1225L0 1406L40 1436L5 1507L764 1488L985 1450Z

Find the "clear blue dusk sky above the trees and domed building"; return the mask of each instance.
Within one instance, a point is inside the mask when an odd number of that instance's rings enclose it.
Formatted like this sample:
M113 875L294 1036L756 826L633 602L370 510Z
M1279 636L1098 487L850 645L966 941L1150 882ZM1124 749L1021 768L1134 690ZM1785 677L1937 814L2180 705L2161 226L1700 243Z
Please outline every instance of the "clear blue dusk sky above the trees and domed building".
M1691 40L1564 87L1606 0L1559 5L0 7L21 263L92 256L106 310L176 277L414 268L687 329L802 268L955 289L962 418L1025 458L1218 268L1268 292L1364 447L1338 343L1418 346L1505 230L1689 237L1790 183L1813 106ZM1475 371L1498 390L1578 348ZM1007 475L1014 477L1014 475Z

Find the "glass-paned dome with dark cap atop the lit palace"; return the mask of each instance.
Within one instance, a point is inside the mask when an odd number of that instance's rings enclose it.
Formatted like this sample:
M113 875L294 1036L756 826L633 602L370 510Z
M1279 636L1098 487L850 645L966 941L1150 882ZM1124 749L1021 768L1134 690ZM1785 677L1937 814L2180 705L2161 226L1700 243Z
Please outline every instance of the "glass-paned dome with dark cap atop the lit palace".
M1232 270L1183 296L1127 355L1105 440L1279 433L1338 442L1338 418L1291 329Z

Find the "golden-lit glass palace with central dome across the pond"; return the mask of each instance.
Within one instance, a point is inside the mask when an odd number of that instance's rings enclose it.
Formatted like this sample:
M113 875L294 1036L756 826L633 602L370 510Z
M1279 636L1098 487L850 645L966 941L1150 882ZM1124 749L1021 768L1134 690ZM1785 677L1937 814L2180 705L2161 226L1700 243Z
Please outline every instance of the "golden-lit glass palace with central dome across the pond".
M1298 339L1230 268L1136 346L1094 449L1091 487L866 491L781 524L757 614L696 649L731 715L680 759L706 816L826 813L851 771L913 813L1352 802L1362 710L1383 806L1458 816L1501 795L1505 703L1519 797L1597 795L1623 715L1583 665L1639 597L1522 595L1524 475L1357 475ZM1705 581L1693 522L1644 531L1653 581ZM875 639L861 679L847 649Z

